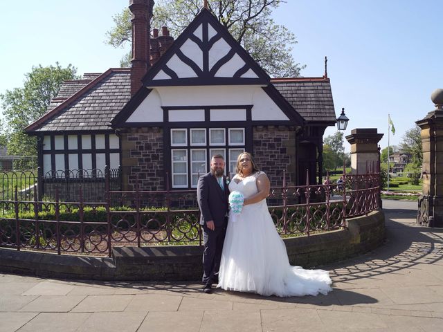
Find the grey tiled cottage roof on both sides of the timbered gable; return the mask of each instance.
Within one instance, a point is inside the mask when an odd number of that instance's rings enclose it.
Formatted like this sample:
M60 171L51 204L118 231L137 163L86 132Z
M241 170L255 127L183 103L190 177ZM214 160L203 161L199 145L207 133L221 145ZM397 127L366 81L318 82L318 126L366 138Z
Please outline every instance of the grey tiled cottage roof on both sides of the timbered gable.
M271 83L305 118L307 123L336 122L329 79L322 77L273 78ZM82 80L66 81L51 100L45 116L31 124L33 131L109 130L109 122L130 99L128 68L84 74Z

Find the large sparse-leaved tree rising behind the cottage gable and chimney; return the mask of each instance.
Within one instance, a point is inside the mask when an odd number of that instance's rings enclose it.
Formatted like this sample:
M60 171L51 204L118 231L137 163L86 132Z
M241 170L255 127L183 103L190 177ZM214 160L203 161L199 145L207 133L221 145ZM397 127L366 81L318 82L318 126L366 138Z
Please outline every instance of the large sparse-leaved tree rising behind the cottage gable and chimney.
M208 8L221 24L228 28L255 61L273 77L298 77L301 66L291 54L297 44L295 35L286 27L275 24L271 13L282 0L218 0ZM177 37L203 6L201 0L159 0L154 6L152 27L168 26ZM132 42L131 12L129 8L114 15L114 26L107 33L107 44L122 47ZM120 66L130 65L131 55L125 55Z

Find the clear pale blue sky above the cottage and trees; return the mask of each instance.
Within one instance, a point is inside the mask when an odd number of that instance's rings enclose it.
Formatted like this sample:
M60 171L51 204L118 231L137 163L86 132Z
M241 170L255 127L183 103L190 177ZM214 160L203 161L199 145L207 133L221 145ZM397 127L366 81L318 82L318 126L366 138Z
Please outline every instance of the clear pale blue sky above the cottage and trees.
M0 93L21 86L38 64L71 63L79 73L118 67L129 45L114 49L104 40L112 15L128 3L0 1ZM273 19L296 35L293 55L307 65L303 76L322 76L327 56L336 114L345 107L350 118L345 135L377 128L383 148L388 113L396 129L390 144L398 145L433 110L431 93L443 88L442 12L440 0L287 0Z

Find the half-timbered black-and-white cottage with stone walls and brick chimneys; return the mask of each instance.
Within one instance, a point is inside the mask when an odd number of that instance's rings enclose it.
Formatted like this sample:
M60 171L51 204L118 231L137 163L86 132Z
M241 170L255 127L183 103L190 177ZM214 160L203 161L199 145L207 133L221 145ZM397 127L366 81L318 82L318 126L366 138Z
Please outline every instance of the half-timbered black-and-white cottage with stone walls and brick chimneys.
M65 82L26 131L42 175L120 167L121 186L190 189L222 154L250 151L273 185L321 178L323 133L336 122L323 77L271 78L206 8L173 40L150 32L154 1L131 0L132 68Z

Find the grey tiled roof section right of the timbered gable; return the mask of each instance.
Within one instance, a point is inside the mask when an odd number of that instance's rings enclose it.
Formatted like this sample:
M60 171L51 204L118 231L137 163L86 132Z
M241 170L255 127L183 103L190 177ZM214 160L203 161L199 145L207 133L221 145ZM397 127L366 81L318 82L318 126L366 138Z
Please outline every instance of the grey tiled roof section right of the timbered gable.
M328 78L273 78L271 83L308 124L336 122L331 83Z

